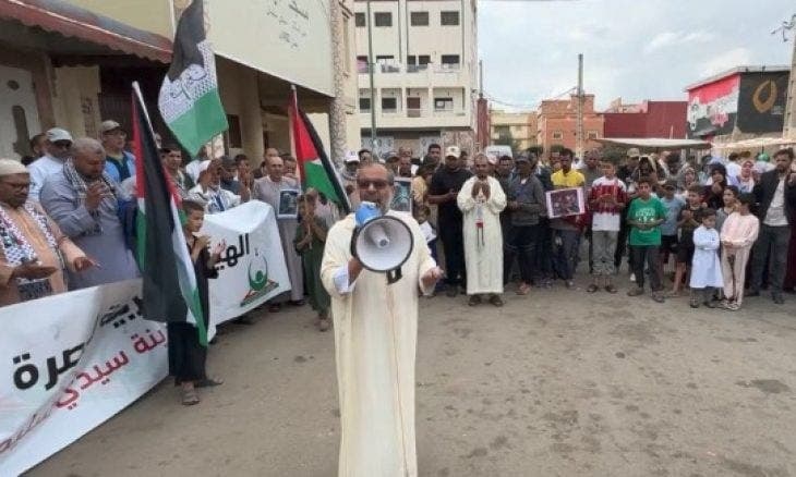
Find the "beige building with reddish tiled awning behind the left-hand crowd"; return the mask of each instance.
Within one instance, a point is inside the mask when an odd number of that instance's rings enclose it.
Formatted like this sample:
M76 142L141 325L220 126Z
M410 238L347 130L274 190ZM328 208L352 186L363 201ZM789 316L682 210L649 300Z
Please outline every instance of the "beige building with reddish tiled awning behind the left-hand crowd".
M26 138L52 126L75 137L96 137L105 119L129 127L133 81L141 84L155 129L168 140L156 113L157 95L177 19L189 3L0 1L0 84L14 86L0 87L0 156L29 154ZM324 3L325 10L311 0L206 2L230 124L224 135L227 154L245 152L257 162L266 147L290 151L291 85L327 150L335 98L346 109L351 136L346 142L359 140L352 0L335 4L342 41L333 40L334 22ZM272 32L274 40L251 41L262 32ZM333 61L333 52L340 61ZM336 78L342 78L342 88L335 87Z

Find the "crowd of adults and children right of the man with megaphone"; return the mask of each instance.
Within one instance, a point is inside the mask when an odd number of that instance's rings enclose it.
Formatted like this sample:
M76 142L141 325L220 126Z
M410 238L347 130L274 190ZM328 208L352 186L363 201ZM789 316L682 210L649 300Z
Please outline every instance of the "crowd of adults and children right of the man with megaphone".
M575 289L581 261L588 293L617 293L626 260L629 296L647 283L659 303L690 289L692 307L735 310L763 289L782 304L796 285L792 149L685 161L636 148L620 161L599 150L579 160L569 149L546 162L533 150L462 157L431 145L422 159L401 148L384 163L411 178L413 215L445 265L444 292L467 294L470 306L502 306L514 283L520 295L557 281ZM357 167L372 161L365 149L346 159L353 204Z

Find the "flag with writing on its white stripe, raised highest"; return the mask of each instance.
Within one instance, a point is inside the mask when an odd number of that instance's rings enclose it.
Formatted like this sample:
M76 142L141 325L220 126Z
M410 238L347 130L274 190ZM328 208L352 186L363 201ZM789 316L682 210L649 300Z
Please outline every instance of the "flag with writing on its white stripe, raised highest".
M227 131L216 59L205 34L203 0L193 0L177 24L174 52L160 86L158 109L191 156Z

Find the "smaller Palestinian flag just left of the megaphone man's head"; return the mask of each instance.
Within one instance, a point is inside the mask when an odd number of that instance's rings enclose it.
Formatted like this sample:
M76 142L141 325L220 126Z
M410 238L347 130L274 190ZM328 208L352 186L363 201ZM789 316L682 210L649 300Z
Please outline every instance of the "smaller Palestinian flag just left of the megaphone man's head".
M307 187L317 189L326 198L336 203L342 213L348 215L351 211L351 205L348 201L346 189L340 184L337 170L324 152L324 145L310 122L310 118L299 109L294 88L288 102L288 113L293 129L293 146L303 188L305 191Z

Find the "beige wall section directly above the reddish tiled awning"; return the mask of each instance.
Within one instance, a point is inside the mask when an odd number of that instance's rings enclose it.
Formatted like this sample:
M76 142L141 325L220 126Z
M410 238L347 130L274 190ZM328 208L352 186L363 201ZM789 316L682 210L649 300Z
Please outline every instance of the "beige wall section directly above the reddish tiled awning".
M109 16L138 29L172 36L172 10L169 0L64 0L100 15Z

